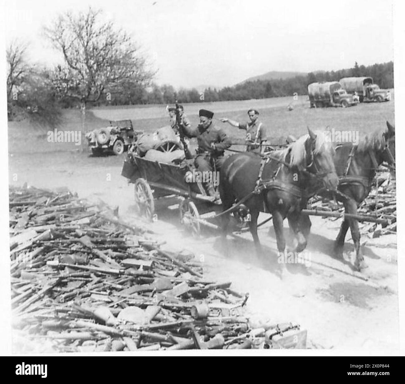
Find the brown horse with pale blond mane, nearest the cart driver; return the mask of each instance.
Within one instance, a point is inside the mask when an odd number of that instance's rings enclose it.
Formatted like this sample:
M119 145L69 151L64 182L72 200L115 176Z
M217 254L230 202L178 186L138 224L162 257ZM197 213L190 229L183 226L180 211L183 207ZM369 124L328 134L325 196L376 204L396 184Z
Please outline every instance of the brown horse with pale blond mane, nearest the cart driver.
M307 199L321 189L337 188L333 145L326 142L322 132L316 134L310 129L308 132L286 149L271 152L267 162L265 157L238 153L228 157L221 168L219 189L224 211L249 196L243 203L250 214L249 229L258 253L261 251L257 235L259 212L273 214L279 252L286 247L283 220L288 217L298 240L295 251L301 252L307 242L298 218ZM228 223L229 214L224 214L225 238Z

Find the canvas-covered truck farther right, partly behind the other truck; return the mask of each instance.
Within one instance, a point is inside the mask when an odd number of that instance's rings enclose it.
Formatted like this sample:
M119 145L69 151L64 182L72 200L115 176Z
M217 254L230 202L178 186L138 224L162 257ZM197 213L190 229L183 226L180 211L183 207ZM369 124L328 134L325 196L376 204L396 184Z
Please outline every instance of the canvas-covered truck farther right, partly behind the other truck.
M380 89L373 83L372 77L343 77L339 81L343 89L350 94L357 94L362 102L383 102L391 100L389 89Z

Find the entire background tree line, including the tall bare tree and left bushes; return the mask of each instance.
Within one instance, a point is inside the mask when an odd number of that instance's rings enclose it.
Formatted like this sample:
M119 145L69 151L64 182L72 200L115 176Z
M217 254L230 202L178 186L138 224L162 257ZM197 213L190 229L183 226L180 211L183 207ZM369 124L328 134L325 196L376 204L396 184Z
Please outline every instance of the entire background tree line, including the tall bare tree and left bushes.
M101 11L67 12L43 29L44 36L64 58L63 64L46 68L31 64L27 45L13 42L6 52L7 110L9 120L29 118L39 124L57 125L61 108L82 112L83 132L88 106L173 104L249 100L307 93L314 81L339 81L346 76L371 76L382 88L393 88L393 63L359 66L330 72L311 72L287 79L247 81L221 89L179 89L156 85L156 71L138 45Z

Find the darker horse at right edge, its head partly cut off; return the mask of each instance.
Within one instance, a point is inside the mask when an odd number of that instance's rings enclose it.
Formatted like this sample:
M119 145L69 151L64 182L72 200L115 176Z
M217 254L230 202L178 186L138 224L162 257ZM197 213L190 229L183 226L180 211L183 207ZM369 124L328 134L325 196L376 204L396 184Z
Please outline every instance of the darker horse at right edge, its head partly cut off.
M345 212L356 214L360 203L369 195L376 168L383 162L395 165L395 129L387 121L387 129L366 137L358 146L352 143L339 143L336 148L335 167L339 175L339 187L336 194L342 202ZM330 193L320 193L321 196L333 199ZM311 222L308 216L301 215L301 227L309 233ZM360 251L360 231L355 219L343 220L335 241L335 253L343 258L343 245L347 229L352 233L356 260L354 267L361 271L367 268Z

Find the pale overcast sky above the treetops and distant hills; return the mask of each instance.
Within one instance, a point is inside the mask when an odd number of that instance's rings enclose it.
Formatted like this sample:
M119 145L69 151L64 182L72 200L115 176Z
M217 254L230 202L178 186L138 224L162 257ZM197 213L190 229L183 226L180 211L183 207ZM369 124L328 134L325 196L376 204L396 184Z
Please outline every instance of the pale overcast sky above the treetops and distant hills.
M41 28L61 12L102 8L132 34L158 84L233 85L276 71L310 72L393 59L390 0L18 0L8 1L6 41L30 41L30 58L60 57Z

